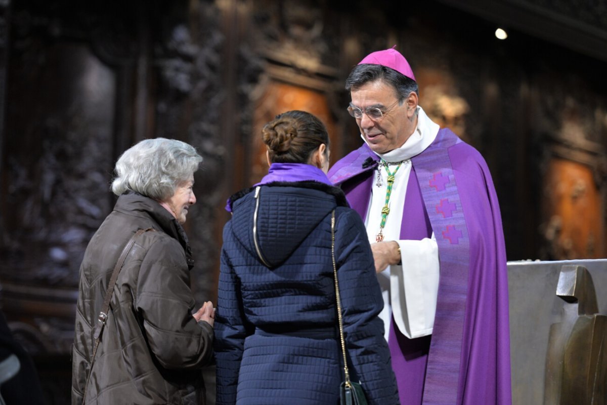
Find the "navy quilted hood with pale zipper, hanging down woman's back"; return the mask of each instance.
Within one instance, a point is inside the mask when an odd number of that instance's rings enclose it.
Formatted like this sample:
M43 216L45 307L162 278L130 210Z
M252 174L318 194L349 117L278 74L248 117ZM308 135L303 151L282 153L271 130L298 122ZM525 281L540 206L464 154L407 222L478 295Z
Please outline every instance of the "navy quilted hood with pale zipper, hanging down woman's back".
M268 183L231 201L234 236L270 268L287 260L336 206L348 206L341 189L313 181Z

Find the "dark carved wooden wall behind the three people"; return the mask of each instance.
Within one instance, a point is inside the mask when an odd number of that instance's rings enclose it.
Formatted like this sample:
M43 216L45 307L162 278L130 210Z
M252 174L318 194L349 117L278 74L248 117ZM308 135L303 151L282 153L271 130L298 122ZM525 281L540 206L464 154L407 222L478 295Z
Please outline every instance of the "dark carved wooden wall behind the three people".
M195 296L214 300L223 205L266 170L261 126L311 111L342 157L361 143L345 77L395 44L421 106L486 158L508 259L606 256L606 2L399 7L0 1L0 299L49 404L69 403L78 267L115 202L121 152L169 137L205 158L186 231Z

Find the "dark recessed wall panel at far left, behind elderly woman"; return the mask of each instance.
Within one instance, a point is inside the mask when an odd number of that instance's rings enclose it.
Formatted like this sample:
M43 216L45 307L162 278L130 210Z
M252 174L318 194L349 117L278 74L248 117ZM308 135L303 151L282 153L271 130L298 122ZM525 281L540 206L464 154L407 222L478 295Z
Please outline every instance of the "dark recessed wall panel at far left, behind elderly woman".
M4 281L76 287L90 236L110 211L114 73L86 46L12 55L4 144Z

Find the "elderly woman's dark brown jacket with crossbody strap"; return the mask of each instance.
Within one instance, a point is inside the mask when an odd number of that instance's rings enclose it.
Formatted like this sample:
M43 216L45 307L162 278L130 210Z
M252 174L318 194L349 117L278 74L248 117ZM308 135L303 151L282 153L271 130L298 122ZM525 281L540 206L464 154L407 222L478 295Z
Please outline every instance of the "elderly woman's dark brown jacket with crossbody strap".
M160 204L123 194L89 242L80 267L72 359L72 404L83 401L93 327L127 241L138 237L120 271L87 388L86 404L204 404L202 367L213 330L192 316L193 265L181 225Z

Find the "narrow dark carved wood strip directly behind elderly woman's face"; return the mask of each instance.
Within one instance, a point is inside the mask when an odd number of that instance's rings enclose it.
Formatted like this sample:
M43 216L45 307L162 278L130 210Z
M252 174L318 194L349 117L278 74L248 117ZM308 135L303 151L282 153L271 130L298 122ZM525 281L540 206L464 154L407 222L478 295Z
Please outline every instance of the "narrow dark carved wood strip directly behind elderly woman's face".
M222 109L222 38L217 35L218 10L212 4L198 9L197 24L180 22L168 28L155 56L160 73L156 136L184 140L203 157L195 174L198 202L185 223L194 254L192 289L198 302L215 301L215 273L221 245L217 231L223 226L217 207L222 206L226 182L226 154L219 130L226 117Z

